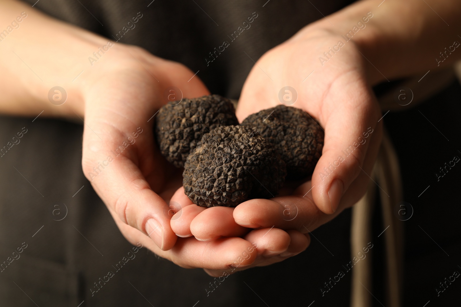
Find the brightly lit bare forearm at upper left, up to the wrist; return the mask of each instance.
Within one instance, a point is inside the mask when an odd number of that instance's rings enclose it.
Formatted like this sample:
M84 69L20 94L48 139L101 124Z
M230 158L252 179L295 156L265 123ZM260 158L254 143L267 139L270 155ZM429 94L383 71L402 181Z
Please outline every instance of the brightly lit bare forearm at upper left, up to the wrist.
M0 31L0 113L82 116L83 76L97 73L88 58L107 41L19 1L0 2ZM56 86L67 94L62 105L48 99Z

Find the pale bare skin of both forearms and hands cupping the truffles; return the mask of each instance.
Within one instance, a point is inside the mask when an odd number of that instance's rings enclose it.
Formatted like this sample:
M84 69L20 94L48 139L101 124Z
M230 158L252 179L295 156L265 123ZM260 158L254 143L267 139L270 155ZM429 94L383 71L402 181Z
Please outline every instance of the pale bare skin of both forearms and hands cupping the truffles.
M0 42L0 70L6 72L0 75L0 112L35 117L43 110L43 117L80 123L84 119L83 172L130 243L141 242L179 266L201 267L213 276L233 263L239 266L233 272L269 265L305 250L309 231L352 206L365 192L382 133L382 115L371 86L385 78L436 70L434 58L457 40L461 6L455 0L426 2L386 0L379 7L380 1L357 2L328 20L307 25L257 61L242 89L238 119L280 104L278 91L289 84L298 93L293 106L312 114L325 129L324 150L312 180L289 185L270 200L249 200L235 209L198 207L180 188L180 171L160 155L152 133L154 121L148 120L165 104L167 87L180 88L188 98L209 94L197 75L188 82L194 72L121 43L90 66L88 57L107 45L106 38L12 0L0 3L1 24L10 24L21 12L27 17ZM337 45L367 12L373 17L366 28L322 65L323 52ZM461 52L453 52L438 68L460 57ZM60 106L47 98L56 85L68 94ZM92 178L89 173L98 162L138 127L143 132L136 143ZM322 177L324 167L369 127L373 132L366 143ZM297 208L296 218L284 214L287 208Z

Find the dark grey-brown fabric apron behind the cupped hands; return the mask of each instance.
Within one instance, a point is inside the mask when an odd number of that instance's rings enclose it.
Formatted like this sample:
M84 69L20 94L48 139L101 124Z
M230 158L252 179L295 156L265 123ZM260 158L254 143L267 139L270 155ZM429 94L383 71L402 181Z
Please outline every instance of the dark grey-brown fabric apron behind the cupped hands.
M35 0L26 2L33 5ZM266 4L266 1L248 3L244 0L219 4L203 0L149 2L41 0L35 8L109 40L142 46L156 56L183 63L193 71L200 70L198 75L211 93L238 98L254 65L243 51L256 60L303 26L322 18L321 13L326 16L349 4L349 1L319 0L312 3L271 0ZM135 28L125 33L124 27L138 12L142 14L141 19ZM225 52L211 61L209 53L221 46L227 35L253 12L258 17L251 28L244 30ZM441 94L445 95L443 106L448 110L443 113L447 120L440 121L440 125L446 131L451 129L450 144L459 144L456 143L458 134L450 126L456 121L455 106L449 102L454 101L455 95L459 97L461 91L455 85L450 91ZM424 107L431 109L433 118L441 110L435 104L424 104ZM386 116L396 129L393 131L390 127L405 163L402 166L405 188L410 190L415 181L422 180L414 178L411 171L430 173L428 163L435 163L434 156L442 155L442 148L448 148L445 144L435 150L431 144L436 144L432 143L436 142L436 136L431 127L424 126L427 128L421 136L424 142L408 142L403 135L399 137L398 127L404 127L401 133L417 138L421 123L418 122L419 126L412 123L422 121L426 125L424 119L417 118L416 112ZM81 125L41 117L33 121L33 118L3 116L0 117L0 146L12 142L12 137L22 132L23 127L27 132L20 142L11 148L8 146L8 151L0 157L0 261L6 261L0 272L0 306L309 306L312 302L313 307L349 306L350 272L327 293L322 289L350 261L350 210L313 232L311 245L300 255L272 266L239 272L219 282L201 269L183 269L159 259L145 248L135 253L83 176ZM407 147L411 150L407 151ZM461 170L456 175L459 174ZM446 181L449 185L449 180ZM447 199L455 199L456 189L440 191ZM436 204L439 210L448 210L447 207L453 208L455 203L421 200L421 208L427 211L420 211L420 218L433 218L429 208ZM440 223L447 233L438 233L439 242L455 235L449 228L449 219L455 222L456 215L443 214ZM376 220L380 220L379 212ZM380 225L376 228L376 231L382 230ZM457 238L459 240L459 236ZM412 251L437 259L441 251L432 248L426 238L417 239L424 247L415 247L416 243L408 240ZM379 242L375 246L373 252L378 254ZM408 257L415 255L408 251ZM377 257L376 266L382 266L378 261L384 261ZM420 270L426 273L435 270L434 261L430 263L432 266ZM382 274L377 272L373 295L380 298L384 297L384 290L379 287ZM419 283L415 274L408 278L414 282L408 284L408 289ZM431 280L436 281L437 278ZM408 291L412 297L416 293Z

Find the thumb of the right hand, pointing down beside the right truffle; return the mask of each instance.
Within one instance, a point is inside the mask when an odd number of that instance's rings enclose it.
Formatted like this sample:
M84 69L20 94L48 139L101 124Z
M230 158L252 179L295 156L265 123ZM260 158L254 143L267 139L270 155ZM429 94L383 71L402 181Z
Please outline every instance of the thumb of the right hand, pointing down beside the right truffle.
M323 103L321 118L325 122L325 144L313 175L313 199L320 210L336 211L344 191L361 172L370 134L380 113L372 93L357 73L346 74L331 84ZM325 118L327 117L327 118Z

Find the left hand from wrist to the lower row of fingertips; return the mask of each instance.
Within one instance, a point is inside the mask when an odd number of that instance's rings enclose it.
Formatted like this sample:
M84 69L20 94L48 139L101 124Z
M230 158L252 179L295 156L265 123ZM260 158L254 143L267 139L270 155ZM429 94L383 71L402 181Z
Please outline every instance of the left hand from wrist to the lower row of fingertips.
M112 48L116 48L111 50L112 58L98 63L95 73L81 81L85 100L82 165L124 237L177 265L204 268L216 276L224 270L236 272L281 261L287 251L291 255L306 249L308 237L299 232L269 228L246 233L248 228L235 223L223 230L228 237L212 242L175 235L170 223L182 221L188 215L186 208L197 206L185 207L191 202L181 187L181 170L160 155L152 126L156 112L168 101L165 89L177 87L185 98L208 91L181 64L133 46ZM184 211L170 222L182 208L179 203ZM232 214L226 217L232 219Z

